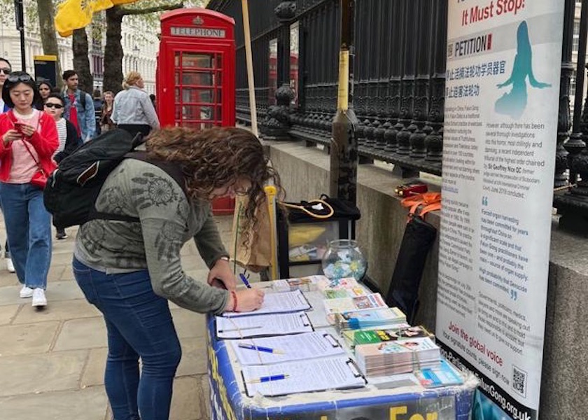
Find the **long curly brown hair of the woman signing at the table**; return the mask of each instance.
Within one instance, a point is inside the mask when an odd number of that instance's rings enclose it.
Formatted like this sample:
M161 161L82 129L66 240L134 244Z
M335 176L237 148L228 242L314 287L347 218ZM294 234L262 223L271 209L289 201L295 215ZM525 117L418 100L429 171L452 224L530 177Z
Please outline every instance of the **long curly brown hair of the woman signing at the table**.
M267 165L268 158L255 135L237 127L212 127L202 131L170 127L149 134L149 158L179 162L186 175L190 198L208 200L215 188L251 181L245 216L257 224L255 209L265 201L263 187L272 181L283 195L279 176Z

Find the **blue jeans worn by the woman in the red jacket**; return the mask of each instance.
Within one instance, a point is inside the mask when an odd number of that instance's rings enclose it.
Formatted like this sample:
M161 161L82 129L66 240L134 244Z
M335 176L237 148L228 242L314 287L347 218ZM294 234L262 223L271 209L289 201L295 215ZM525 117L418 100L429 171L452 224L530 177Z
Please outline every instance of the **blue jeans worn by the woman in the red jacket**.
M30 183L0 183L0 200L18 281L29 288L47 288L51 215L43 204L43 190Z

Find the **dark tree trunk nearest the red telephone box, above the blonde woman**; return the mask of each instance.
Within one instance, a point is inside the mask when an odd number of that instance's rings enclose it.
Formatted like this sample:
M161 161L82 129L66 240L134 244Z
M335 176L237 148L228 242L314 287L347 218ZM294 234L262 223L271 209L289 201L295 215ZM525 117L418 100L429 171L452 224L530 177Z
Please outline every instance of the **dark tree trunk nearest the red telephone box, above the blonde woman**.
M106 46L104 47L104 91L116 94L123 89L123 45L120 35L123 14L120 6L106 9Z

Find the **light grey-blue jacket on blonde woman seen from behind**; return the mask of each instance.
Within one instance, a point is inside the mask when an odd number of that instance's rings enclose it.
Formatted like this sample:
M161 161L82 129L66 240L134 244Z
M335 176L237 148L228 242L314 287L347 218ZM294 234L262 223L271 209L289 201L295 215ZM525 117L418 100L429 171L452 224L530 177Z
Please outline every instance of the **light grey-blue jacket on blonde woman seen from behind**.
M116 94L111 119L116 124L146 124L154 130L160 127L149 95L137 86Z

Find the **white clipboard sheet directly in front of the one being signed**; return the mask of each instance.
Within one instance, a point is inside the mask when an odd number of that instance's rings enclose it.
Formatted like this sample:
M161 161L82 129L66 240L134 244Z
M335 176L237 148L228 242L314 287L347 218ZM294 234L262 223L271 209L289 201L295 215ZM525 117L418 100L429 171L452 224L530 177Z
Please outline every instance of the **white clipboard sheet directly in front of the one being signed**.
M235 318L216 317L216 336L218 338L248 338L264 335L288 335L312 332L312 324L305 312Z

